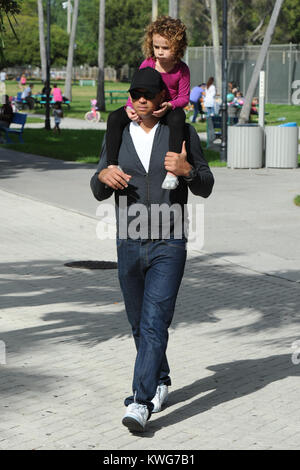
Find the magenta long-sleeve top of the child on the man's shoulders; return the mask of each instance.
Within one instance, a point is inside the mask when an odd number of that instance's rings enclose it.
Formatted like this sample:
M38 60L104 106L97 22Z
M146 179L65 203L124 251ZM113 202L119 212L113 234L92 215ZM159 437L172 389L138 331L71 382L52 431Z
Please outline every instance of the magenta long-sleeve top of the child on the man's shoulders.
M152 67L155 69L155 59L150 57L141 63L140 69ZM184 108L190 100L190 70L181 60L173 67L170 72L161 73L162 79L166 85L166 101L172 104L172 108ZM132 107L131 99L128 98L126 106Z

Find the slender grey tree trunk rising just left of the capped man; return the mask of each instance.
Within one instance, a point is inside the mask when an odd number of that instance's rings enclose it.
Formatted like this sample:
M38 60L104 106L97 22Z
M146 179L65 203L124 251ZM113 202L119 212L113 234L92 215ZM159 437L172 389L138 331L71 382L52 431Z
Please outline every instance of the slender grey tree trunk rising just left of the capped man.
M104 94L104 56L105 56L105 0L99 3L99 43L98 43L98 85L97 104L100 111L105 111Z

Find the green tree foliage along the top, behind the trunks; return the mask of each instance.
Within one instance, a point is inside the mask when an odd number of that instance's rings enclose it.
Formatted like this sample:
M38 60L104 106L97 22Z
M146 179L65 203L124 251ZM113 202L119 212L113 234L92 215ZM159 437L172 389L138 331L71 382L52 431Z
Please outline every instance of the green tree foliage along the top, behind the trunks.
M180 0L179 16L187 25L189 45L212 44L209 2L207 0ZM217 0L221 27L222 0ZM159 0L159 14L168 13L168 0ZM272 13L274 0L230 0L229 45L259 45ZM44 0L44 7L46 1ZM21 12L19 13L19 9ZM20 39L17 43L7 15L17 15L14 29ZM145 26L151 21L151 0L106 0L105 65L136 67L142 60L141 40ZM76 64L97 65L99 0L80 0L76 36ZM39 65L39 35L36 0L0 0L1 18L5 27L6 65ZM11 16L11 18L13 18ZM65 65L68 54L67 12L62 0L51 0L51 61ZM1 26L0 26L1 31ZM0 32L1 34L1 32ZM285 0L276 31L275 43L300 42L299 0Z

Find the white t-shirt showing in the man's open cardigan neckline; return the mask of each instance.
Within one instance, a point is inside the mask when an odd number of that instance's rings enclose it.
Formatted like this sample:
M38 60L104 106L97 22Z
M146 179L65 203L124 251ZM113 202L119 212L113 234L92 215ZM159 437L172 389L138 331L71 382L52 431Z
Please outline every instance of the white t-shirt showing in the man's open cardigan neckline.
M136 153L142 162L143 167L148 173L150 157L152 152L153 140L159 122L151 129L150 132L145 132L141 126L132 121L129 126L129 132L135 147Z

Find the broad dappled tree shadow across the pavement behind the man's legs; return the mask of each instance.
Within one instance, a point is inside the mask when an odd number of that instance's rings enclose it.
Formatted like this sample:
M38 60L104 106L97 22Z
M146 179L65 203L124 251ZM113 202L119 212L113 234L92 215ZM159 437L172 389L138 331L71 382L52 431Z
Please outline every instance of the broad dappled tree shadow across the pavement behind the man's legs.
M2 308L10 308L12 315L13 309L22 308L25 326L1 334L2 340L22 333L22 342L16 344L22 350L50 338L93 346L130 334L117 270L72 269L64 266L66 261L1 264ZM68 303L72 309L61 311L60 305ZM253 334L299 324L299 305L299 283L241 272L204 255L187 261L172 327L215 323L243 310L238 325L222 334ZM26 328L26 315L35 307L45 311L39 313L41 325Z

